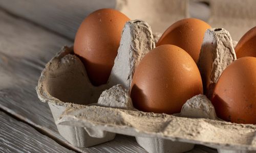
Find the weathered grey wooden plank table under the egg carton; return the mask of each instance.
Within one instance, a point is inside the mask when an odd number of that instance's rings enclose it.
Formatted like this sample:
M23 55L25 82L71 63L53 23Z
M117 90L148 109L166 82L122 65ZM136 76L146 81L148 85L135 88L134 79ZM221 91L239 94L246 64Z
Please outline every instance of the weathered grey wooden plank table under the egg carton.
M61 46L73 44L76 29L88 14L78 4L87 2L77 1L77 6L71 4L71 9L65 11L65 6L52 1L52 6L59 10L51 17L46 13L54 9L49 8L39 18L36 8L29 8L32 2L0 2L0 152L146 152L130 136L117 135L113 141L78 148L58 134L50 109L39 101L35 87L45 64ZM111 3L97 7L110 7ZM72 7L77 10L70 14ZM74 18L69 19L72 15ZM216 150L196 146L189 152Z

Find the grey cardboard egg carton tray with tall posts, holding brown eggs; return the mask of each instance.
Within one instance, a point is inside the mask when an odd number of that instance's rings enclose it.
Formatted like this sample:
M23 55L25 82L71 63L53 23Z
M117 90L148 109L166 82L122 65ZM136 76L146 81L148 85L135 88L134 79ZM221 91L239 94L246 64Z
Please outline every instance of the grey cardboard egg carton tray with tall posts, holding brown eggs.
M181 113L173 115L133 107L130 87L135 67L159 36L144 21L126 22L109 81L98 87L90 83L73 47L63 47L46 65L36 87L39 99L49 104L60 135L78 147L124 134L135 136L148 152L184 152L195 144L218 152L255 152L256 125L219 119L205 95L188 99ZM198 66L207 95L224 68L236 60L234 44L224 29L206 31Z

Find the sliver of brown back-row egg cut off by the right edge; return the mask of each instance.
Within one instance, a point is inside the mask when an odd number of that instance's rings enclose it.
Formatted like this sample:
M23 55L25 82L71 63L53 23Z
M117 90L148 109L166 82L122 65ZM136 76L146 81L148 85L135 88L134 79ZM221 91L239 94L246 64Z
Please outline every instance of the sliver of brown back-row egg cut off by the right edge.
M256 57L256 27L249 30L239 40L237 46L234 48L237 58L241 57Z

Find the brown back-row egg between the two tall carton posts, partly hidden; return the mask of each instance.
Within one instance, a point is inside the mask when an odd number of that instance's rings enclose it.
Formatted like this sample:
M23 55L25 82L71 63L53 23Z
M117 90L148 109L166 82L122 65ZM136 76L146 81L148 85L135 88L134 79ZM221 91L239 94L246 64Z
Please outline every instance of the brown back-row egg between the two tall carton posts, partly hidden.
M159 39L157 46L163 44L173 44L186 50L186 52L197 63L204 33L211 28L206 22L196 19L182 19L174 24L163 33Z

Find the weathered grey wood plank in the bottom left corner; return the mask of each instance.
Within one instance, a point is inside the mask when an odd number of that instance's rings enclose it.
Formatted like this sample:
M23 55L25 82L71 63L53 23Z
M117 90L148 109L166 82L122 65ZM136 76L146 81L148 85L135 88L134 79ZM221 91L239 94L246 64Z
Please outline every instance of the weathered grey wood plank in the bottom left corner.
M74 152L0 111L0 152Z

